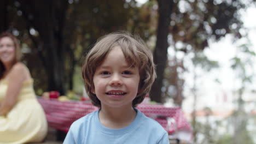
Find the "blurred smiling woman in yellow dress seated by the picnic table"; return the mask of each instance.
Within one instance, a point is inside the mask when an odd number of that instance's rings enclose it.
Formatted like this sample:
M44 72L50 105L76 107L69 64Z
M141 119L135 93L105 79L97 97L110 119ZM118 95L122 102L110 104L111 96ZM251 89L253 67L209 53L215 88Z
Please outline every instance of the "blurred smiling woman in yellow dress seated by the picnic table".
M18 40L10 33L0 34L0 143L40 142L47 133L33 79L19 58Z

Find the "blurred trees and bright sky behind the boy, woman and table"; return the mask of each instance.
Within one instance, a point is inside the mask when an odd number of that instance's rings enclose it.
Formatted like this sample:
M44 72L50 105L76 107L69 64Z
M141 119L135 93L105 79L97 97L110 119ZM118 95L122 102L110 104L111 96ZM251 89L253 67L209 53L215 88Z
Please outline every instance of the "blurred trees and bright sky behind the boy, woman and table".
M97 38L139 34L158 75L152 103L182 107L194 143L256 143L255 0L2 0L0 32L19 38L37 95L83 95Z

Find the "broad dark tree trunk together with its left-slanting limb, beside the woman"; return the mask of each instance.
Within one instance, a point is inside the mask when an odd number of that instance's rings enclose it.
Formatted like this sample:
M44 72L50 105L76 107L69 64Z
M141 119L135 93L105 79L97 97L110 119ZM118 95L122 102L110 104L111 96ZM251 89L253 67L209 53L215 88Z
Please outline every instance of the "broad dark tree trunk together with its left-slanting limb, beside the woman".
M22 14L27 20L28 31L33 27L39 32L43 45L48 91L65 94L65 48L63 27L66 19L67 1L20 1Z

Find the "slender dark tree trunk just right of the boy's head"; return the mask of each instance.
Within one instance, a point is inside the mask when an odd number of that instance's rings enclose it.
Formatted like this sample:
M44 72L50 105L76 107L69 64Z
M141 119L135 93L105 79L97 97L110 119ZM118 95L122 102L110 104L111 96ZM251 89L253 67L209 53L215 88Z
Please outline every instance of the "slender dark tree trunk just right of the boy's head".
M164 70L167 61L170 15L173 7L173 1L158 0L158 31L156 37L156 47L154 50L154 63L156 64L156 80L150 91L150 99L158 103L162 103L162 80L164 79Z

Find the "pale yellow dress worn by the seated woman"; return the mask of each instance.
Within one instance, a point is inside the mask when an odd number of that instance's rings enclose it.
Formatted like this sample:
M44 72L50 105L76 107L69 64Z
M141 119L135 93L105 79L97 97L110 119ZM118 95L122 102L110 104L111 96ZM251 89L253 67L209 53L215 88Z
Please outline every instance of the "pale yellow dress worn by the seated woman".
M0 81L0 101L7 92L8 80ZM47 121L33 89L33 79L22 88L16 105L5 116L0 116L0 144L40 142L47 133Z

